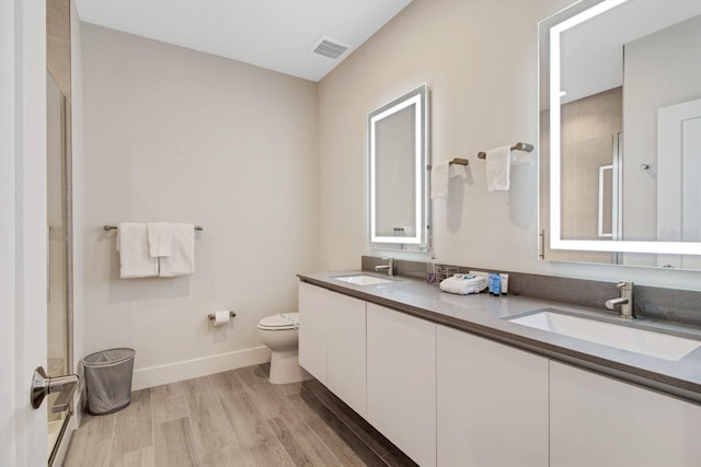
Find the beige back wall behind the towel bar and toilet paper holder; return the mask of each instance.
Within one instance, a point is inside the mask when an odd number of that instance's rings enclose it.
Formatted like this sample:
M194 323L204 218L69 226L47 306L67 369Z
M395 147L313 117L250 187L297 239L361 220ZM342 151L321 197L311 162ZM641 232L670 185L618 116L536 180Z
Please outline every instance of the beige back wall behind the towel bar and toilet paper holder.
M82 24L84 353L136 349L134 387L264 361L256 324L317 269L317 86ZM191 277L118 279L120 221L180 221ZM212 329L207 314L234 310Z

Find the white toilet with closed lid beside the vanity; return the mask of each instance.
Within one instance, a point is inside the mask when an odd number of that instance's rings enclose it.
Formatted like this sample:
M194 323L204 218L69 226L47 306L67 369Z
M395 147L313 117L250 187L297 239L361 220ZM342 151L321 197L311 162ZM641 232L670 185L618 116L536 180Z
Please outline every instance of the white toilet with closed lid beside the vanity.
M271 376L273 384L298 383L311 376L297 358L299 341L299 313L278 313L258 322L258 332L271 349Z

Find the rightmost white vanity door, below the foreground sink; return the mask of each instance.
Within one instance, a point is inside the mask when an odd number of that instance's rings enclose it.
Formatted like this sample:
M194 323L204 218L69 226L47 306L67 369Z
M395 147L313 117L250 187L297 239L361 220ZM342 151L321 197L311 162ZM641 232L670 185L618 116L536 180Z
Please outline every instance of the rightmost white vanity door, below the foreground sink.
M701 465L701 407L550 363L552 467Z

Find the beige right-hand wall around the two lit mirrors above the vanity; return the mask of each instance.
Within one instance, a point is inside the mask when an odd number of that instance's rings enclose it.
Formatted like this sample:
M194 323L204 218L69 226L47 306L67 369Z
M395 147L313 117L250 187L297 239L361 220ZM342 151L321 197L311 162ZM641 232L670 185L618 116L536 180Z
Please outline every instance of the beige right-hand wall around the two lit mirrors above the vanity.
M536 152L513 167L509 192L486 191L478 151L538 142L537 24L568 3L414 0L320 82L321 269L357 268L369 253L368 112L427 82L433 161L470 160L464 185L433 203L439 261L701 290L701 272L538 261Z

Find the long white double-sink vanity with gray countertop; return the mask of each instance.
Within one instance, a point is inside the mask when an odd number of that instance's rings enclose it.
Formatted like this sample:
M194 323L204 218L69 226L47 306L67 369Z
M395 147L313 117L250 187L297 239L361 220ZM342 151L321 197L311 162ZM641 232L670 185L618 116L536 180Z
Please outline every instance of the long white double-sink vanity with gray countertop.
M422 466L701 463L693 326L359 271L299 279L300 364ZM512 320L542 310L692 346L651 357Z

